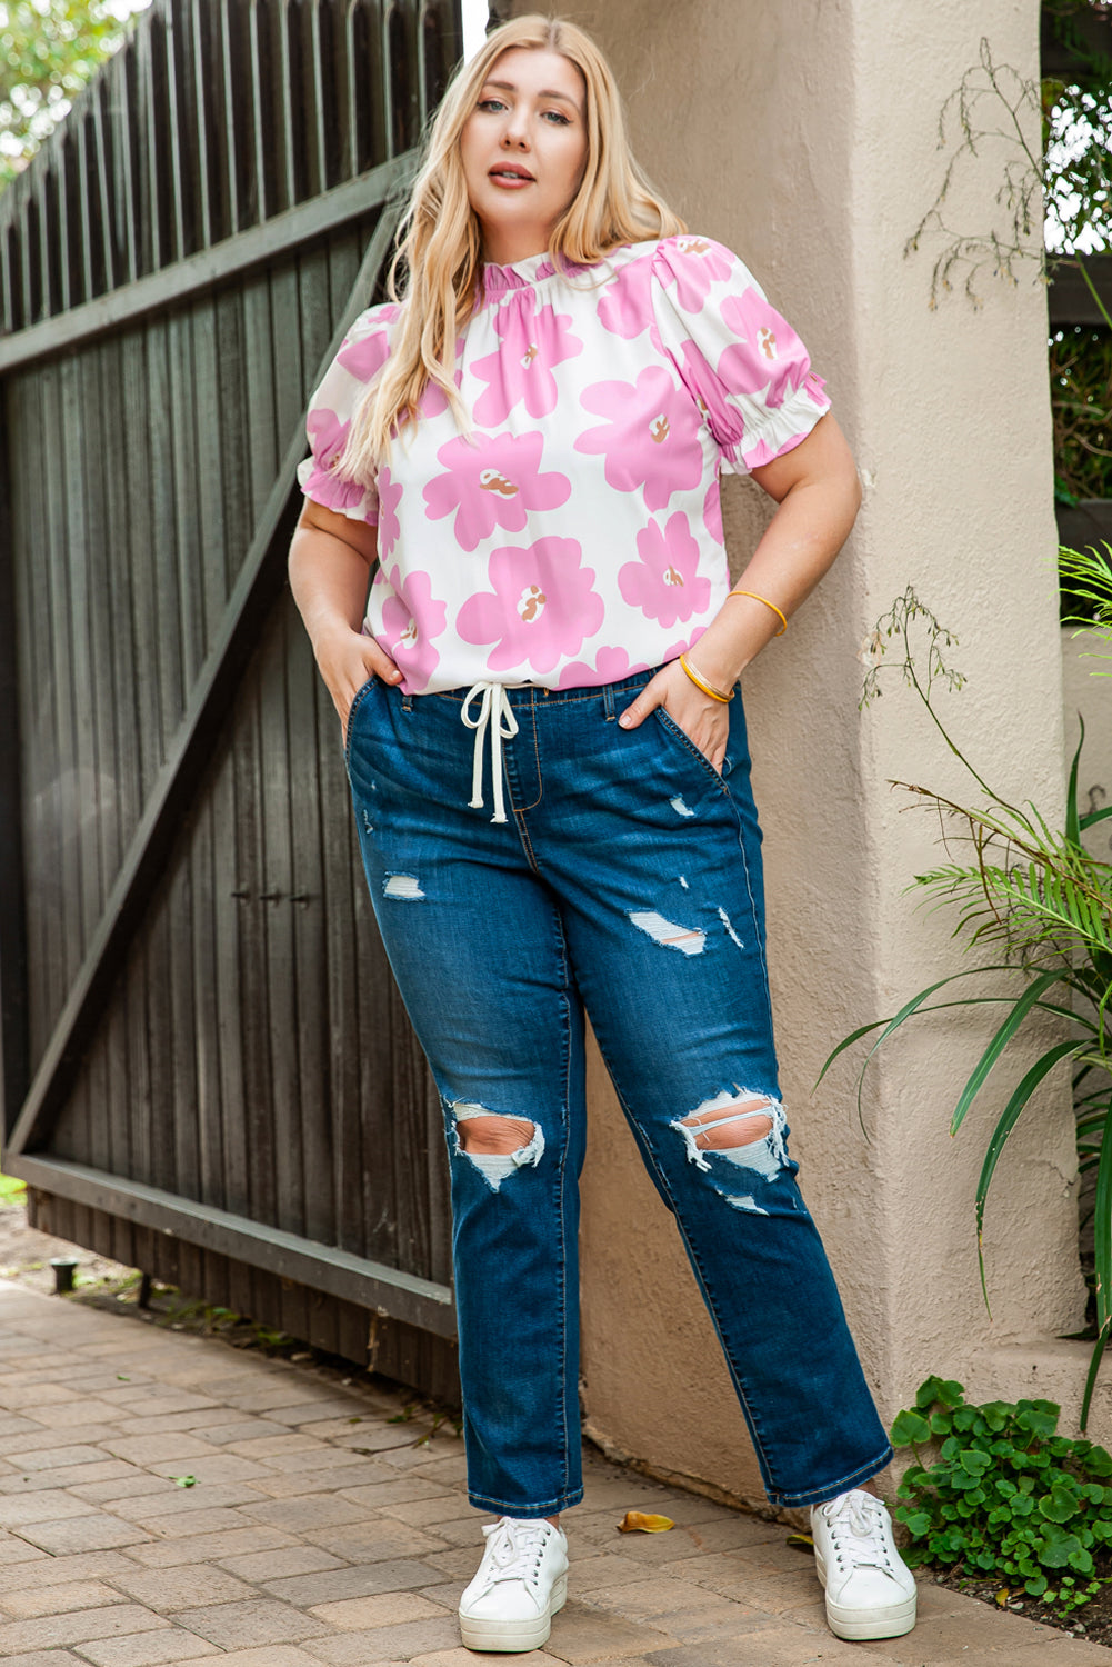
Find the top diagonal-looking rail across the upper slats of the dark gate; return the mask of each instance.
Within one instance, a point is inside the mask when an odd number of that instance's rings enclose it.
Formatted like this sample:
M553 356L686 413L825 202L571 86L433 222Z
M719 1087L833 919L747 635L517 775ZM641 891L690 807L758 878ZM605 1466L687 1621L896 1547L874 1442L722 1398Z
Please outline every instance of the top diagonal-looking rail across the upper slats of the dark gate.
M25 330L0 338L0 372L72 348L92 335L102 335L118 325L132 325L142 313L160 312L170 305L227 283L228 278L267 265L315 237L323 237L348 220L358 220L388 197L405 192L415 168L413 152L395 157L358 180L347 180L323 197L297 203L275 215L265 225L240 232L238 237L215 243L212 248L175 262L145 278L135 278L123 288L100 295L95 302L73 307L72 312L43 323L30 323Z

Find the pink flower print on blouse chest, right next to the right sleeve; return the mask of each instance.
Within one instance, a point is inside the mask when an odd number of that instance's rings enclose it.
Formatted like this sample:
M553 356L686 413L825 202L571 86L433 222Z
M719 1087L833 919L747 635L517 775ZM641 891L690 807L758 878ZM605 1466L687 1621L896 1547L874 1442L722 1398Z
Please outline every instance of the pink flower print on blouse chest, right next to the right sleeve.
M662 510L674 492L699 485L699 412L662 365L642 370L635 383L595 382L584 390L582 403L610 418L575 442L577 452L605 453L609 485L619 492L644 485L650 510Z

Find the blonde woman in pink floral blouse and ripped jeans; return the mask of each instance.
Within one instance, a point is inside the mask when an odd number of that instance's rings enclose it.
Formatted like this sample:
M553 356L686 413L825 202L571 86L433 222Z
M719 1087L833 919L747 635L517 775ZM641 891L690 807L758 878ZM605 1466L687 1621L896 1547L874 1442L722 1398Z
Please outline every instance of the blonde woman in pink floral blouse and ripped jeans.
M812 1505L830 1625L915 1620L864 1487L890 1449L785 1147L734 698L845 540L857 475L799 337L684 233L594 43L507 23L433 125L403 300L355 322L308 417L290 578L448 1134L470 1499L498 1517L470 1649L542 1645L567 1592L584 1009L769 1497ZM737 590L720 468L779 503Z

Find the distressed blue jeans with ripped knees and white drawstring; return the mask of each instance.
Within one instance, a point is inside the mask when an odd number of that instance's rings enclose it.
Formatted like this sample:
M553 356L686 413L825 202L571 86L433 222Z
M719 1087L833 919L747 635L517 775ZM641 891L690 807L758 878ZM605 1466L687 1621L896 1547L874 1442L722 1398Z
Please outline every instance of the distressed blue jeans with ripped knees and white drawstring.
M619 727L650 675L505 692L503 823L490 782L468 803L463 690L372 680L348 718L370 895L445 1112L468 1492L512 1517L582 1497L584 1009L769 1499L834 1499L892 1457L787 1155L742 702L719 775L662 710ZM520 1119L517 1150L468 1150L480 1115Z

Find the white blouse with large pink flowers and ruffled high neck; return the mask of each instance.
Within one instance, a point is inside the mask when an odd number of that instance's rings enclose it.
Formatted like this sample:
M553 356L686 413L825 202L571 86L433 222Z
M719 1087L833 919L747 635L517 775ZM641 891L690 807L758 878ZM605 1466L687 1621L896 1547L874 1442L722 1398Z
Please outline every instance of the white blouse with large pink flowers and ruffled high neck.
M378 528L365 632L407 693L617 682L689 648L729 570L719 475L827 410L804 343L704 237L488 265L457 343L473 433L425 390L363 487L335 473L398 307L362 313L313 393L307 497Z

